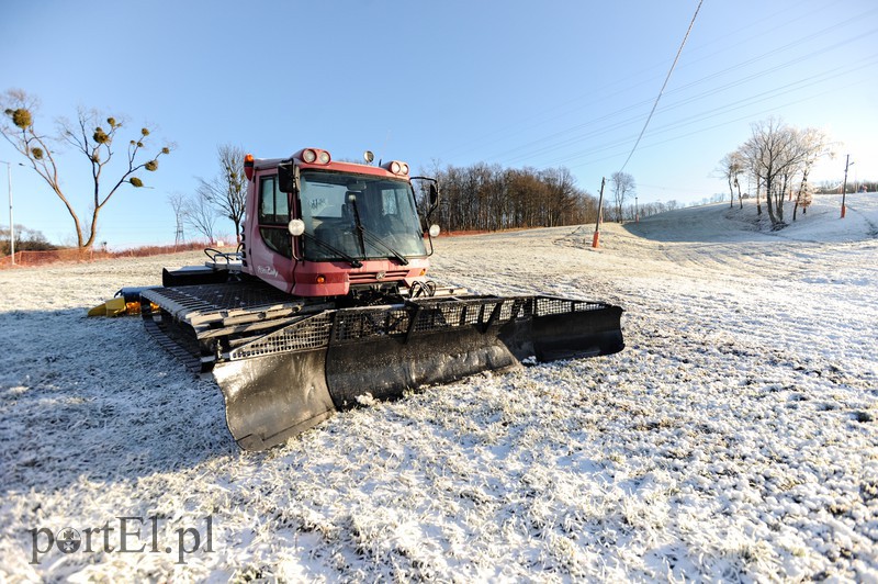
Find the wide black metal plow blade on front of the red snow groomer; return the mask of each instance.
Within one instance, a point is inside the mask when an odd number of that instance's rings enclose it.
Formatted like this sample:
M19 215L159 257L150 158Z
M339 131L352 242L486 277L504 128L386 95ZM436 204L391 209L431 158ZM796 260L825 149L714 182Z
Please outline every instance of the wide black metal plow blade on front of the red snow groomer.
M213 364L226 422L263 450L371 395L401 397L521 361L622 350L622 310L551 296L470 296L303 315L224 352Z

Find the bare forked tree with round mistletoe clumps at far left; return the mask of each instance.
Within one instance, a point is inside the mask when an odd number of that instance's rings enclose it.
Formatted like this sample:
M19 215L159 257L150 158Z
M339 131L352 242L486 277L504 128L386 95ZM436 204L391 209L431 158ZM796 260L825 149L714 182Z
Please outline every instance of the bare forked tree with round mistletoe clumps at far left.
M80 108L74 122L68 120L58 122L58 135L52 137L38 132L34 126L33 117L40 105L35 97L20 89L10 89L0 100L5 114L0 122L0 134L27 159L34 171L67 207L74 221L77 245L80 248L88 248L94 244L98 215L119 189L123 184L143 187L143 180L135 175L139 170L156 171L159 157L170 154L170 146L165 146L143 160L149 130L140 128L128 142L127 154L122 164L115 168L114 178L109 181L110 187L102 189L101 179L104 178L104 172L109 171L108 167L114 155L113 142L124 126L123 120L112 115L104 116L97 110ZM80 220L74 209L72 200L61 187L56 153L57 147L65 143L81 153L91 166L90 216L87 215L85 221Z

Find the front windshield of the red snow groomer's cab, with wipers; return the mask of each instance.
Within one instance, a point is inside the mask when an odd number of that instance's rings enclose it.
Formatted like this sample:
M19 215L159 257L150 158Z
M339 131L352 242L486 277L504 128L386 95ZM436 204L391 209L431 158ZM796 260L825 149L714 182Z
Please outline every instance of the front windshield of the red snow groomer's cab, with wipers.
M305 259L337 260L426 256L412 186L364 175L303 171ZM335 250L333 249L335 248Z

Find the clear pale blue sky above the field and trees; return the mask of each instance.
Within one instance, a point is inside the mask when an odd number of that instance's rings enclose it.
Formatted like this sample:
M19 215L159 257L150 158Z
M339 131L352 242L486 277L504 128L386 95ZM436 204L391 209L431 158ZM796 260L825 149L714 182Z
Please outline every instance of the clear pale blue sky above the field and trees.
M257 157L372 149L425 170L565 166L596 193L631 151L697 4L14 2L0 21L0 91L37 96L44 131L82 105L176 143L143 177L153 189L105 207L99 242L111 247L172 243L167 196L211 177L219 144ZM774 115L843 143L815 180L841 180L845 154L852 179L876 180L876 89L874 0L705 0L624 170L642 202L700 201L725 190L719 159ZM21 160L4 141L0 159ZM85 213L88 168L74 153L60 164ZM13 166L13 192L16 224L70 240L33 171Z

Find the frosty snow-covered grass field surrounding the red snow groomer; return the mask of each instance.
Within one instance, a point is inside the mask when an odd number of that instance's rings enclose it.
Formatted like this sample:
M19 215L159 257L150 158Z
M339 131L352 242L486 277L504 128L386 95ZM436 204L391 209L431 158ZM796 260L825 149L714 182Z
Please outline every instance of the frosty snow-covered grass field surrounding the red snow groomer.
M878 194L837 199L776 233L747 203L599 249L593 226L441 239L437 280L620 304L628 348L263 453L137 318L85 317L196 255L0 272L0 581L876 582Z

